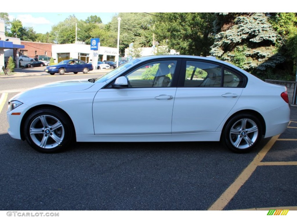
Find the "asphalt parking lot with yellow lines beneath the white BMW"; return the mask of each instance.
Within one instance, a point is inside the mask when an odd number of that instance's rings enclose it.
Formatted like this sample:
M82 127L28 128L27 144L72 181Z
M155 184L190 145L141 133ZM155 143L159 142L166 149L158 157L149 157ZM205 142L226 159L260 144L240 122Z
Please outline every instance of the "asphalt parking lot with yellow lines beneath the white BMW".
M47 78L22 75L6 78ZM8 90L0 93L0 210L297 210L296 106L283 134L247 154L219 142L77 143L43 154L8 135L7 100L17 93Z

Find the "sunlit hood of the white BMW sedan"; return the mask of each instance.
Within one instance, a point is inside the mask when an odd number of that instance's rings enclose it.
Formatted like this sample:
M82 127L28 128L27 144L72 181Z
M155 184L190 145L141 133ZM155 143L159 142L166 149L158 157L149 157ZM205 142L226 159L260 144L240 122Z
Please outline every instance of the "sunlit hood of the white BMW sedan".
M17 100L33 95L42 95L56 92L69 92L69 91L81 91L92 87L94 83L88 81L88 79L79 79L71 81L57 81L48 84L41 84L36 87L30 88L24 92L20 92L15 95L11 100Z

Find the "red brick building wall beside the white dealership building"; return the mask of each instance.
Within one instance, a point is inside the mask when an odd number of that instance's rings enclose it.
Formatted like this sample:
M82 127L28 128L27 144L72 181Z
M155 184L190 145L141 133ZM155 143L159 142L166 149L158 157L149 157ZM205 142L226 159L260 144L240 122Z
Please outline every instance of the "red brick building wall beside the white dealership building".
M24 45L24 49L19 50L19 55L26 55L34 58L35 55L47 55L52 56L52 43L39 43L31 41L20 41L21 45Z

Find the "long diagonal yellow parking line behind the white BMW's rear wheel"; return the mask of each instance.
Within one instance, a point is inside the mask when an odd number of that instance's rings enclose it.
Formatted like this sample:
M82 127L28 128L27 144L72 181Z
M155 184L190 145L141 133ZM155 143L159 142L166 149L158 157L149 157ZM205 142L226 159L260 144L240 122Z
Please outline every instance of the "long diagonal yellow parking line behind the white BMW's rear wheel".
M279 135L273 136L268 143L263 147L263 149L257 154L254 160L241 172L241 174L236 178L236 180L228 187L227 190L219 197L219 199L211 205L208 210L219 211L223 210L230 200L235 196L237 191L244 185L244 183L249 179L252 173L255 171L257 166L260 164L261 160L264 158L266 153L271 149Z

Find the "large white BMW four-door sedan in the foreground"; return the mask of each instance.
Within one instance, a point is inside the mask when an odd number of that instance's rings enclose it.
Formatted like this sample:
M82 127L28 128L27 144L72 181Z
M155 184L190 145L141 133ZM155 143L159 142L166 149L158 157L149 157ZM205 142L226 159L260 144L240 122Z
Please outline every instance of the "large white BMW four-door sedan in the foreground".
M8 103L10 136L41 152L75 141L221 141L245 153L290 120L285 87L198 56L141 57L101 78L37 86Z

